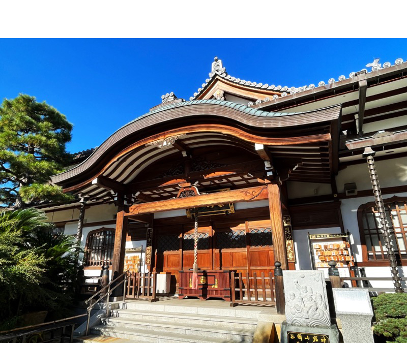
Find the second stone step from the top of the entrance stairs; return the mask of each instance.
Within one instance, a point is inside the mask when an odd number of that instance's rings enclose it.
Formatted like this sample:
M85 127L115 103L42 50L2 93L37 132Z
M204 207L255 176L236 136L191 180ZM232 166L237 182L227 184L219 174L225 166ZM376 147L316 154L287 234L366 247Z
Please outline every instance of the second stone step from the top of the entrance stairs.
M243 329L254 329L257 324L257 319L252 318L183 314L164 311L141 311L132 309L111 310L110 316L129 319L144 319L149 320L151 322L158 320L176 323L237 327Z

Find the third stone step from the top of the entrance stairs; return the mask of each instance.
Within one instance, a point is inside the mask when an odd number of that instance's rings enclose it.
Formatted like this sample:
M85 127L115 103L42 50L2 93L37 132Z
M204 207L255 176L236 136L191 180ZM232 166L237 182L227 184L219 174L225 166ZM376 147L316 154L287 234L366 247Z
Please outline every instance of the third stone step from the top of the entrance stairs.
M129 319L129 318L104 318L102 323L107 326L114 327L125 327L125 328L140 328L145 330L153 331L165 331L172 333L181 333L190 335L203 335L207 337L216 338L229 338L236 339L241 342L250 342L253 338L254 328L231 328L218 326L213 323L213 325L200 325L200 324L190 324L183 323L179 321L168 322L168 321L151 321L147 319Z

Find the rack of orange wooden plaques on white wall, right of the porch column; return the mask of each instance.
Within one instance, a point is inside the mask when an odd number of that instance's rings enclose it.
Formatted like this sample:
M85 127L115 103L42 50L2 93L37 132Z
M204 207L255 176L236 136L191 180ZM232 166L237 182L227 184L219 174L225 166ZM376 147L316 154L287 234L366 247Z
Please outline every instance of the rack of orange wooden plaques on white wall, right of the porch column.
M312 269L329 268L329 261L336 266L355 269L355 258L349 242L349 232L310 235L308 233L309 250Z

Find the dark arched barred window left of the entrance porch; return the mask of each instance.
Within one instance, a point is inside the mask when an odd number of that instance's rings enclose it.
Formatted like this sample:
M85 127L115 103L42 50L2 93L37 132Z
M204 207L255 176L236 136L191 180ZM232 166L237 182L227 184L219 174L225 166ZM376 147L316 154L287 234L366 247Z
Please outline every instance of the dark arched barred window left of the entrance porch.
M86 239L86 266L111 265L113 259L114 229L91 231Z

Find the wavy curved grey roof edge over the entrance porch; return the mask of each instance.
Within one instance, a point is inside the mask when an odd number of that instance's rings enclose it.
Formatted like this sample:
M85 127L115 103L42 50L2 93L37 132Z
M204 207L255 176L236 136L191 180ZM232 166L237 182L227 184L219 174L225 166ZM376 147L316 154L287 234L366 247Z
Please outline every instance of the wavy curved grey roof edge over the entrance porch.
M317 111L280 113L257 110L245 105L221 100L196 100L162 106L157 110L146 113L108 137L88 159L76 167L53 175L53 183L70 182L70 179L89 171L99 159L107 153L107 150L118 142L122 142L129 135L137 131L146 129L154 124L160 124L180 117L195 116L215 116L238 121L253 128L291 128L305 124L317 122L327 122L337 120L340 116L340 105L319 109ZM277 138L276 138L277 139ZM277 144L277 143L276 143ZM96 171L95 171L96 173Z

